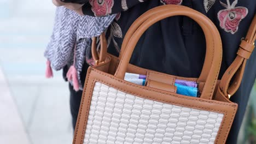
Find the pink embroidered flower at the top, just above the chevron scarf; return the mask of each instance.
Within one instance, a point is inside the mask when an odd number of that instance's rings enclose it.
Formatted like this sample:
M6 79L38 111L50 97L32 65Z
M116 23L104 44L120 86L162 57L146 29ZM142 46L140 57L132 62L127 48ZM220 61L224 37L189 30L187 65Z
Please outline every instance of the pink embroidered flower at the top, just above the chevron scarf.
M95 16L104 16L112 12L114 0L90 0L91 10Z

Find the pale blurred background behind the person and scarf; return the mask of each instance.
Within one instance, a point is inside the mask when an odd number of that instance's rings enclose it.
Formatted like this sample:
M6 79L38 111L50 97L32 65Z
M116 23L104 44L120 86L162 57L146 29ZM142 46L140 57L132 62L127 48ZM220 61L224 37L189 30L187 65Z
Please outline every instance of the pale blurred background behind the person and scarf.
M44 49L53 29L51 1L0 0L0 143L72 143L68 83L45 79ZM239 143L256 143L256 84Z

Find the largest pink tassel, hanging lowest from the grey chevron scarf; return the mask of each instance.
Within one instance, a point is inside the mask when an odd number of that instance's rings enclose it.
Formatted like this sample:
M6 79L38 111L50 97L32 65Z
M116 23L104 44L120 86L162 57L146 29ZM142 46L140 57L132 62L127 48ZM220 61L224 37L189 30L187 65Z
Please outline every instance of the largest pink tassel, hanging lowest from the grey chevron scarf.
M79 82L77 77L77 70L75 69L74 65L72 65L68 72L67 72L67 79L68 81L72 81L73 87L75 91L79 91Z

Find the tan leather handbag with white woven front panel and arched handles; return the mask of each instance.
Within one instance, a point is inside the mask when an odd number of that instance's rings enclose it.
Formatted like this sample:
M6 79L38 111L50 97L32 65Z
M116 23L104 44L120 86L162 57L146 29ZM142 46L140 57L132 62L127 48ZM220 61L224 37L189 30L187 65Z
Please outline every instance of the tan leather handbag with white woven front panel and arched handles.
M206 57L201 75L179 77L129 64L141 35L155 22L176 15L195 20L205 33ZM256 19L252 25L255 22ZM242 40L233 66L236 68L223 76L224 82L218 81L222 61L218 30L211 20L193 9L162 5L147 11L126 33L119 58L107 53L104 34L98 56L94 38L92 55L97 61L88 69L73 143L225 143L237 104L224 91L235 92L241 82L237 78L234 86L230 77L243 73L249 55L243 51L252 52L255 27L247 36L252 38ZM126 72L147 75L146 86L125 81ZM200 98L177 94L173 85L176 79L199 83Z

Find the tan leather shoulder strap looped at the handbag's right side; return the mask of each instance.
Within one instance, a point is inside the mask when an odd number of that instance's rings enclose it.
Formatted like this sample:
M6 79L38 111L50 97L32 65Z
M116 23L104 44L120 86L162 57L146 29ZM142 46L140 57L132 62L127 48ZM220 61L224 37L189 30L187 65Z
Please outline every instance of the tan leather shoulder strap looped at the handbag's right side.
M220 80L219 88L225 97L230 98L239 88L243 73L245 71L246 61L251 56L254 49L254 41L256 39L256 15L247 32L246 38L241 40L241 44L237 51L237 57L230 67L225 71ZM232 83L231 83L232 79Z

